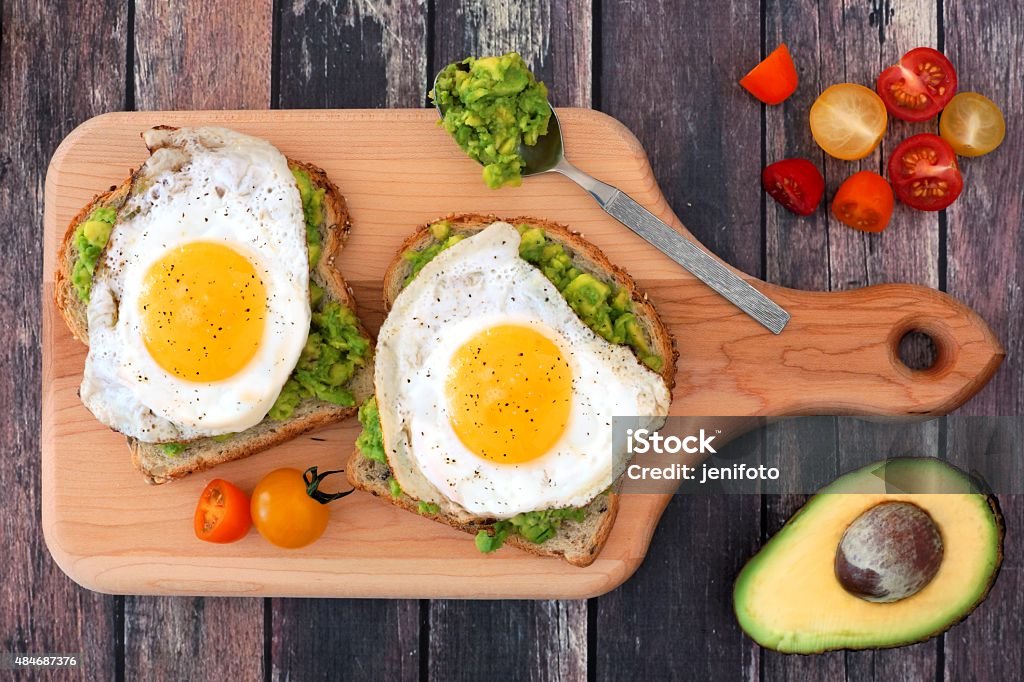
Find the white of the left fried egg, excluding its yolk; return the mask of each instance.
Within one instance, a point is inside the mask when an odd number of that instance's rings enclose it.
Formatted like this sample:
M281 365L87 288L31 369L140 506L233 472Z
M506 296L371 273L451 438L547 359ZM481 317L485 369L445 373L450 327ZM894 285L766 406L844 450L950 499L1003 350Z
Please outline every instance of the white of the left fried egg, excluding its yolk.
M243 431L259 423L309 333L302 202L273 145L223 128L154 129L153 155L119 213L89 298L81 397L104 424L147 442ZM190 382L163 370L141 334L144 276L168 251L223 244L253 264L266 291L255 356L236 375Z

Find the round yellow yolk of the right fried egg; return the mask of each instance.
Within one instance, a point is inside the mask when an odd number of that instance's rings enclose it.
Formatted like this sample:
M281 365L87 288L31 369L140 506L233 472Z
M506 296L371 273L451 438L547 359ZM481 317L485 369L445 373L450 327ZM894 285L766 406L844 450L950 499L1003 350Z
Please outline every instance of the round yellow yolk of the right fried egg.
M569 420L572 374L561 349L520 325L487 329L456 350L446 383L452 427L480 458L541 457Z

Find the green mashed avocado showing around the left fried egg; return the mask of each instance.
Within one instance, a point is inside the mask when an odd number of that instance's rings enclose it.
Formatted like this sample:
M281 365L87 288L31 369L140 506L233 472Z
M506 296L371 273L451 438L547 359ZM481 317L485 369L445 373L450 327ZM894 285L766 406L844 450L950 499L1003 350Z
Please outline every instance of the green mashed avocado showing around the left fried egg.
M313 185L306 171L293 168L292 174L302 199L309 268L312 269L324 248L319 228L325 219L326 191L323 187ZM83 301L89 300L92 273L99 254L110 239L116 218L117 211L114 208L97 208L75 231L78 257L72 269L72 284ZM355 314L337 301L327 299L324 290L312 280L309 282L309 305L312 316L306 345L276 401L270 408L270 419L288 419L298 404L308 397L343 407L355 404L355 397L345 388L345 383L366 363L370 339L359 331ZM230 435L224 434L214 439L222 441ZM187 443L182 442L160 445L161 451L170 457L180 455L186 447Z

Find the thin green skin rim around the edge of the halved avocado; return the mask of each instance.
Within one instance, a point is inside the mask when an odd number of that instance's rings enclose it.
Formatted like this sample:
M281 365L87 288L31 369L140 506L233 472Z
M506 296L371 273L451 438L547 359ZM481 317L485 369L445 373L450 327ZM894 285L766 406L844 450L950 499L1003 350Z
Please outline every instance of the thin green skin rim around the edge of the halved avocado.
M744 593L744 590L743 590L744 579L748 578L748 573L749 573L750 570L752 570L752 569L753 570L757 570L757 561L758 561L759 557L762 555L762 553L769 547L769 545L773 541L775 541L777 538L779 538L780 536L785 537L783 534L785 534L785 531L787 529L792 529L793 526L795 526L802 519L802 517L808 513L809 509L814 509L814 504L813 503L815 503L816 501L819 501L820 498L823 495L828 495L830 492L834 492L833 488L835 488L838 484L840 484L840 483L842 483L844 481L847 481L847 480L853 480L854 477L856 477L856 476L863 476L865 474L869 474L870 472L876 471L880 466L885 466L887 468L890 467L890 466L895 466L897 468L904 468L904 467L918 468L922 464L928 464L928 465L934 467L936 465L936 463L938 463L939 465L941 465L942 467L944 467L945 469L947 469L948 473L953 474L955 476L958 476L959 479L961 479L961 481L963 482L963 484L966 485L967 488L968 488L965 492L969 492L972 495L978 495L978 496L980 496L980 497L982 497L984 499L984 502L986 503L986 505L988 507L988 510L991 513L991 523L992 523L993 529L995 531L995 538L994 538L995 547L994 547L994 561L993 561L994 565L993 565L992 571L989 574L988 580L987 580L987 582L986 582L983 590L979 593L978 597L970 605L968 605L966 608L964 608L964 610L961 613L958 613L956 617L951 619L947 623L943 624L942 627L940 627L940 628L938 628L938 629L936 629L936 630L934 630L934 631L932 631L932 632L930 632L930 633L928 633L928 634L926 634L926 635L924 635L922 637L912 637L912 638L907 638L907 639L898 639L898 640L894 640L894 641L888 642L888 643L879 643L879 642L876 642L876 643L872 643L872 644L865 644L863 646L858 646L858 645L855 645L855 644L852 644L852 645L851 644L836 645L836 646L822 645L822 646L813 647L813 648L812 647L808 647L808 648L792 648L792 647L787 647L787 646L784 646L784 645L773 646L770 642L764 641L763 638L759 638L758 637L758 633L752 632L752 628L748 627L748 624L744 623L744 617L743 617L743 614L741 612L741 608L742 608L741 601L742 601L743 593ZM887 477L887 480L888 480L888 477ZM969 473L961 470L959 468L957 468L957 467L949 464L948 462L945 462L945 461L942 461L942 460L938 460L937 458L931 458L931 457L900 457L900 458L892 458L892 459L889 459L889 460L883 460L883 461L880 461L880 462L876 462L876 463L869 464L869 465L867 465L865 467L861 467L861 468L856 469L854 471L848 472L848 473L843 474L842 476L838 477L831 483L829 483L824 488L822 488L817 494L815 494L813 497L811 497L811 499L809 499L799 510L797 510L796 513L794 513L793 516L790 517L788 520L786 520L786 522L783 524L783 526L781 528L779 528L778 531L776 531L775 535L772 536L772 538L769 539L769 541L761 548L761 550L758 551L757 554L754 555L754 557L752 557L746 562L746 564L744 564L743 568L740 570L739 574L737 576L735 584L734 584L734 588L733 588L733 614L736 616L737 623L739 624L740 628L743 630L744 634L746 634L748 637L750 637L751 639L753 639L755 642L757 642L763 648L772 649L772 650L779 651L781 653L786 653L786 654L814 655L814 654L817 654L817 653L824 653L826 651L838 651L838 650L855 651L855 650L864 650L864 649L872 649L873 650L873 649L890 649L890 648L898 648L898 647L902 647L902 646L910 646L912 644L918 644L918 643L921 643L921 642L925 642L925 641L928 641L928 640L930 640L930 639L932 639L934 637L937 637L937 636L945 633L946 631L948 631L950 628L956 626L957 624L963 623L971 613L974 612L974 610L983 601L985 601L985 599L988 598L988 595L991 592L992 586L995 584L995 581L998 579L999 571L1002 568L1005 538L1006 538L1006 521L1004 519L1002 510L1001 510L1001 508L999 506L999 501L998 501L998 499L993 494L991 494L991 488L988 486L988 484L984 480L982 480L982 479L980 479L980 478L978 478L978 477L976 477L976 476L974 476L972 474L969 474ZM908 598L908 599L910 599L910 598ZM883 604L881 606L885 606L885 605Z

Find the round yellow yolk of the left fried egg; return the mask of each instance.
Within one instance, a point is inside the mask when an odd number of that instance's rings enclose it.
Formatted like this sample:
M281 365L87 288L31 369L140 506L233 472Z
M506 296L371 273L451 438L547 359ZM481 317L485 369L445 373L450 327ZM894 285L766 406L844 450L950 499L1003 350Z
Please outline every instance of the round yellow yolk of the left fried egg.
M141 333L157 364L187 381L220 381L256 354L266 291L252 262L230 247L191 242L145 273Z

